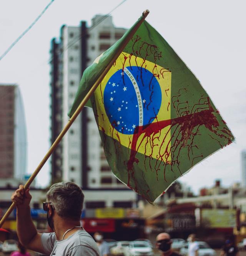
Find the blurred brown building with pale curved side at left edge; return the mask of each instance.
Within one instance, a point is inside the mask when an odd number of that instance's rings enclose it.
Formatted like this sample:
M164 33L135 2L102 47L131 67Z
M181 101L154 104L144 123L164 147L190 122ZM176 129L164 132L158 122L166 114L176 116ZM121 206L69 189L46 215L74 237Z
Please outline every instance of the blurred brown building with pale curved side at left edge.
M15 186L26 172L27 131L20 89L0 84L0 186Z

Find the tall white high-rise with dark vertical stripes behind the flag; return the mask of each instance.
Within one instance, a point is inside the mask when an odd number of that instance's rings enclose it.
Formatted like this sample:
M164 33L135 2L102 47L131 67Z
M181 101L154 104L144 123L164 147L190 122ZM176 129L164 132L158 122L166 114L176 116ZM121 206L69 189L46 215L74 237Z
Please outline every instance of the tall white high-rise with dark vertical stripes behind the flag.
M112 17L96 15L91 27L63 25L60 39L51 46L51 141L68 121L75 93L85 68L125 33ZM84 108L52 154L52 181L75 181L86 188L125 188L106 161L91 108Z

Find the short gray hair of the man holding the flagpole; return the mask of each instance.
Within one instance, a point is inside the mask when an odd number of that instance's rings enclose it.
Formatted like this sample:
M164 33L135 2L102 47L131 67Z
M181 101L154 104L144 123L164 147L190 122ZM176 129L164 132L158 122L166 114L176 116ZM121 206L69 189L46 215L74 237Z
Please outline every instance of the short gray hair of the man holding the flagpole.
M80 219L85 196L81 188L74 182L56 183L50 187L46 196L60 217Z

